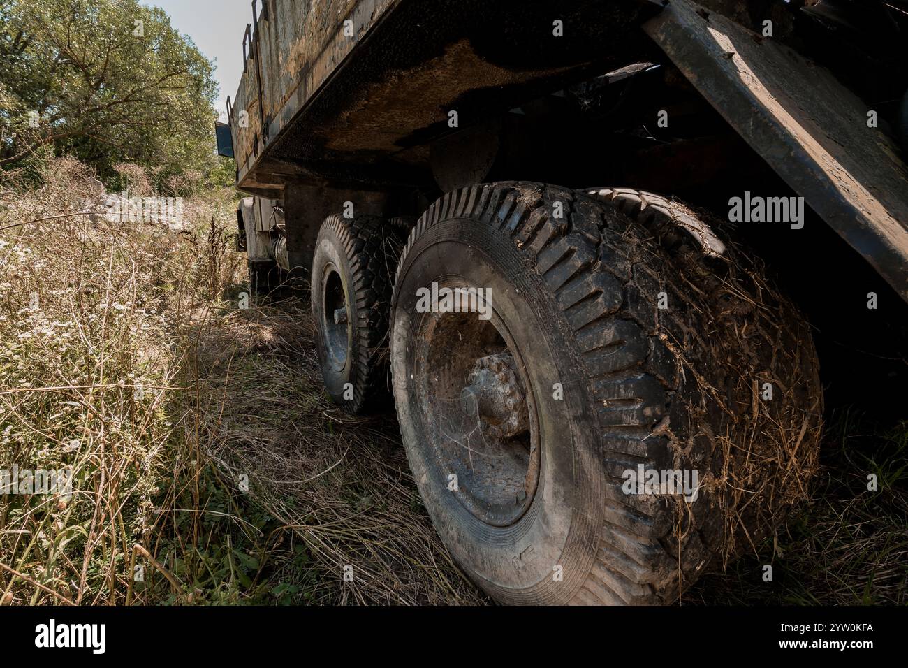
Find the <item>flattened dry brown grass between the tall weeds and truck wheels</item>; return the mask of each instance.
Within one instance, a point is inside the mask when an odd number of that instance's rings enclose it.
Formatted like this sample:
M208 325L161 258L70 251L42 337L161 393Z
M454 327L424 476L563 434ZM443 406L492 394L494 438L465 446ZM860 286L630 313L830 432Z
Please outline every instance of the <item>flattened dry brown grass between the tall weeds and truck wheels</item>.
M308 311L212 314L197 350L202 441L305 543L315 601L483 600L432 530L392 418L350 417L323 393Z

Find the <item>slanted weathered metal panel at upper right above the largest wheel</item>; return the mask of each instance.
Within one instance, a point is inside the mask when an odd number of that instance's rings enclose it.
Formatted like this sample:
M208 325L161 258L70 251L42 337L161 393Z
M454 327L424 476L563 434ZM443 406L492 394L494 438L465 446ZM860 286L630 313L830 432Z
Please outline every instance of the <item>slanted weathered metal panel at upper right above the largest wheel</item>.
M644 25L745 141L908 301L908 170L824 68L689 0Z

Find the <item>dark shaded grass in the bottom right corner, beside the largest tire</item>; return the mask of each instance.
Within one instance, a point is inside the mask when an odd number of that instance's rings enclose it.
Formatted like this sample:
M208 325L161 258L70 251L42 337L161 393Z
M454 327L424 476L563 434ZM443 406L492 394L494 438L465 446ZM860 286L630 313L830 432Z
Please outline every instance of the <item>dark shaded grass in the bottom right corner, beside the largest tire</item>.
M904 605L908 603L908 422L879 424L837 410L804 503L775 536L707 573L686 603ZM867 476L878 489L867 489ZM773 580L764 579L765 566Z

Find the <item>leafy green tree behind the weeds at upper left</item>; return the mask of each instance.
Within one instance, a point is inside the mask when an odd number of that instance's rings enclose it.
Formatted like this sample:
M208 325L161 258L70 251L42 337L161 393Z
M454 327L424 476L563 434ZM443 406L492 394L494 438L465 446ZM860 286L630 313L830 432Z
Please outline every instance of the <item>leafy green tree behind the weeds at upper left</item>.
M38 146L109 179L208 172L212 64L159 8L138 0L0 0L0 167Z

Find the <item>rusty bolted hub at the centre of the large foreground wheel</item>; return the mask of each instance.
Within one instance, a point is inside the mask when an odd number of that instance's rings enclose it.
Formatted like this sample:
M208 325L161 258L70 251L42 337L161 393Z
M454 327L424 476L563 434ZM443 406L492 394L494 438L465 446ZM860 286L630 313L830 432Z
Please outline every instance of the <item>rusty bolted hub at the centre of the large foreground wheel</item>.
M460 407L478 417L483 431L493 438L513 438L529 428L527 401L518 384L510 354L480 357L460 391Z

